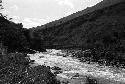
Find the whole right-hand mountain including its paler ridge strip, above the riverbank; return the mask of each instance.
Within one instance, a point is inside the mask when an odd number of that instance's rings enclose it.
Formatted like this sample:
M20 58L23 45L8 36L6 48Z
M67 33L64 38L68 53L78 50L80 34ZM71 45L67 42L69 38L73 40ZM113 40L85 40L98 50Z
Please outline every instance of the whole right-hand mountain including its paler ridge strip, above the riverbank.
M87 10L91 12L85 13ZM65 20L62 23L60 19L30 29L33 38L39 37L43 46L95 47L96 45L107 46L108 42L113 45L112 41L124 37L124 0L104 0L73 15L76 16L71 15L63 18ZM69 17L73 18L69 20ZM118 37L113 36L114 34ZM110 39L107 44L104 41L106 39Z

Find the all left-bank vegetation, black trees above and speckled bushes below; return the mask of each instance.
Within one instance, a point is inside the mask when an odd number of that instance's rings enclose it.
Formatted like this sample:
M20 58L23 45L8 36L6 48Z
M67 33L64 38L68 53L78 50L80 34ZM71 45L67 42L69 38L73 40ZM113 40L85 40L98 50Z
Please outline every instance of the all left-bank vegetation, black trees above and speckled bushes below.
M60 84L50 67L30 66L34 60L27 56L32 46L27 32L0 16L0 84Z

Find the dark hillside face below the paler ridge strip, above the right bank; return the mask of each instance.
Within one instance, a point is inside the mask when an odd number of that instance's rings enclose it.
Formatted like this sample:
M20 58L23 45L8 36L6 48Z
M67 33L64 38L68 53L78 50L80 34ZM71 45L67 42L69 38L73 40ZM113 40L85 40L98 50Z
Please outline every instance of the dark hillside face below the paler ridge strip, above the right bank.
M43 40L43 44L48 44L47 46L94 46L97 41L108 35L112 35L117 39L120 37L119 33L124 32L124 7L125 3L122 2L82 15L59 26L32 29L34 38L39 37Z

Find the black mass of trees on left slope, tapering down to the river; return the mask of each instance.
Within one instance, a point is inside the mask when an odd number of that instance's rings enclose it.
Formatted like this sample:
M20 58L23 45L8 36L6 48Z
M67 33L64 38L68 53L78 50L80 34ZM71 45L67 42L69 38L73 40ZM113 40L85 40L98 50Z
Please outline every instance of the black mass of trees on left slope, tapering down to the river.
M0 42L8 47L8 52L31 52L29 49L45 51L29 37L29 30L22 23L14 23L0 15Z

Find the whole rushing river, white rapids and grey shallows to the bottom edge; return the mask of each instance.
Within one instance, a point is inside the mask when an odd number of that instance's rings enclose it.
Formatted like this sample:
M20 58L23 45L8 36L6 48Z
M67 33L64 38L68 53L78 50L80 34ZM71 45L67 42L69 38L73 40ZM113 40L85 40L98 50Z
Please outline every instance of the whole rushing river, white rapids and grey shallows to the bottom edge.
M87 77L97 79L99 84L125 84L125 69L100 66L94 62L83 63L72 57L72 54L65 50L47 49L47 52L28 55L31 60L35 60L34 64L31 65L32 67L37 65L60 67L62 73L57 74L57 79L69 81L69 84L85 84ZM79 74L79 76L74 77L76 74Z

